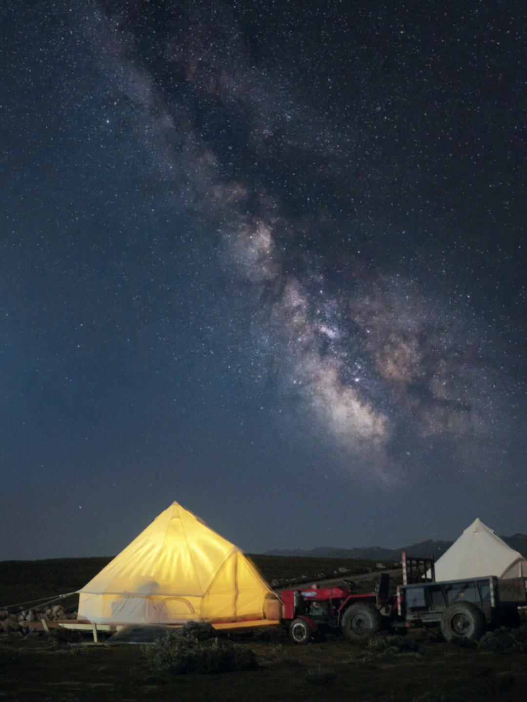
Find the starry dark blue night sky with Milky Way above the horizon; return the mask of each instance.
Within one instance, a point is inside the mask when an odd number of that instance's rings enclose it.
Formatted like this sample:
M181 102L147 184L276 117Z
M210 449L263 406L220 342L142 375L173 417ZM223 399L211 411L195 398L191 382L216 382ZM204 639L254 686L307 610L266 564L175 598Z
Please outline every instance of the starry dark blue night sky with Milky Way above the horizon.
M0 559L527 532L523 0L4 0Z

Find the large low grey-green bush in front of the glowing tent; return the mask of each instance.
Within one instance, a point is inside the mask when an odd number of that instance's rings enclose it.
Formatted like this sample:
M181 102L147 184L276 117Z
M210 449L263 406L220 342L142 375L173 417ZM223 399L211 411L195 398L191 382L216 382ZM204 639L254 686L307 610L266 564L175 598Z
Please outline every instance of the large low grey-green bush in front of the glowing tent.
M187 630L145 647L145 656L154 673L231 673L257 667L251 649L221 640L199 638Z

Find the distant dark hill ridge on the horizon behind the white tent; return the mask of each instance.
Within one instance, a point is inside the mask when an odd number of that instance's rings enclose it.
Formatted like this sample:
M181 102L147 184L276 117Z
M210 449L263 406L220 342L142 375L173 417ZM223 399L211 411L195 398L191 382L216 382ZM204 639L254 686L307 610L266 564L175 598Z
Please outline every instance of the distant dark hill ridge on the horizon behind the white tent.
M527 554L527 535L514 534L514 536L500 536L503 541L521 555ZM374 561L399 561L401 553L406 551L409 556L427 558L433 556L437 560L448 550L453 541L420 541L401 548L382 548L382 546L363 546L361 548L332 548L321 546L310 550L273 550L266 555L273 556L304 556L308 558L352 558Z

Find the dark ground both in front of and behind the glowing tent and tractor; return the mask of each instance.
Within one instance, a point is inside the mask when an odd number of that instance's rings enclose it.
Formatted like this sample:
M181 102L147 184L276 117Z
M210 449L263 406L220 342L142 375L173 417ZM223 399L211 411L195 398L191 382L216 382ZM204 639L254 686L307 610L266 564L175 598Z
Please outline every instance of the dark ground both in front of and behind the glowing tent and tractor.
M306 574L321 581L335 578L342 568L359 590L368 590L378 577L367 562L254 559L268 581ZM2 599L20 602L79 588L98 572L102 560L3 562ZM317 577L322 574L326 578ZM423 630L404 639L415 642L417 650L387 655L329 635L298 646L281 628L260 630L235 640L255 653L257 670L165 675L149 668L139 645L94 645L90 636L79 646L44 633L0 635L0 702L526 701L527 654L459 647Z

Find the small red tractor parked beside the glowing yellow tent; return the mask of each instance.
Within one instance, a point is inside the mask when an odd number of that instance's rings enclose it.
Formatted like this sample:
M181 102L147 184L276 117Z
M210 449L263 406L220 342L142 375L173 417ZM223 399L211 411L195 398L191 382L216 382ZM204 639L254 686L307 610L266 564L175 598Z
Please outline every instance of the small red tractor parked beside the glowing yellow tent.
M354 583L344 587L282 590L283 619L289 622L289 637L295 644L307 644L323 630L342 630L350 642L365 641L389 621L389 576L380 575L375 592L354 593Z

